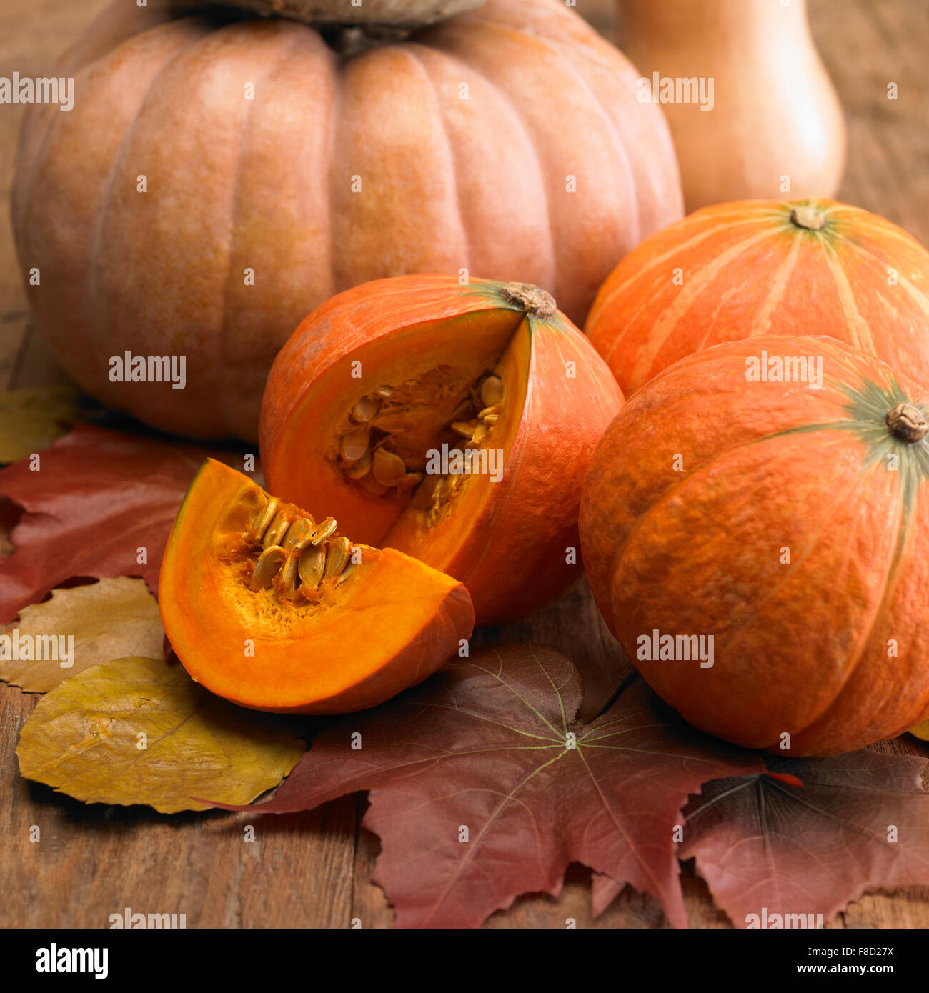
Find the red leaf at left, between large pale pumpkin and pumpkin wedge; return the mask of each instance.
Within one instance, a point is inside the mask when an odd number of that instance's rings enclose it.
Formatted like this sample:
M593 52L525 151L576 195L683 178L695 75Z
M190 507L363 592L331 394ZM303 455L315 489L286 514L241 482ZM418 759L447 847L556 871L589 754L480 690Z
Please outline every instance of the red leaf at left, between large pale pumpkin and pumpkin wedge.
M209 455L78 425L38 469L24 460L0 470L0 494L25 509L10 535L16 551L0 560L0 622L74 576L141 576L155 592L174 515Z

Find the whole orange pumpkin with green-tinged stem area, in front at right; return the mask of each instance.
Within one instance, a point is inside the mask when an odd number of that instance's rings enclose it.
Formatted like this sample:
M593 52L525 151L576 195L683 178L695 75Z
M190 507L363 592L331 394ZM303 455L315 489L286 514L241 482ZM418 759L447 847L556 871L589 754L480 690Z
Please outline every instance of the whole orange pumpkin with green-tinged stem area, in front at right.
M823 387L746 381L762 349L822 356ZM831 755L929 717L929 444L883 421L904 396L925 413L929 392L871 356L771 338L683 359L607 430L581 497L590 586L697 727ZM655 630L713 636L714 664L640 657Z

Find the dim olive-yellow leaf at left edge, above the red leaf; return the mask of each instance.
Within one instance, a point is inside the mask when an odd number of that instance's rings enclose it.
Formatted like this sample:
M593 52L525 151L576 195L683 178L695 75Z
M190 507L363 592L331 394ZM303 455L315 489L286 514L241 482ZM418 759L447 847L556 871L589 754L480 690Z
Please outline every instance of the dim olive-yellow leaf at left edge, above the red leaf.
M68 431L68 425L98 415L75 386L37 386L0 393L0 463L25 459Z

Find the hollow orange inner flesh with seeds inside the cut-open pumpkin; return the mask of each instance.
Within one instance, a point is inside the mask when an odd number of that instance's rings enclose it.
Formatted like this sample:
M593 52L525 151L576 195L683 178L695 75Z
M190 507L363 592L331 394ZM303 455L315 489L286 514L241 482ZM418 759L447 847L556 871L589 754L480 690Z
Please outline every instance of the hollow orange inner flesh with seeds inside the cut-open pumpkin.
M312 493L312 508L337 508L353 534L444 571L463 522L480 519L501 482L531 337L524 314L498 310L414 325L346 356L307 390L275 453L287 466L285 491ZM482 391L499 399L484 404ZM379 472L385 455L402 464L392 486Z

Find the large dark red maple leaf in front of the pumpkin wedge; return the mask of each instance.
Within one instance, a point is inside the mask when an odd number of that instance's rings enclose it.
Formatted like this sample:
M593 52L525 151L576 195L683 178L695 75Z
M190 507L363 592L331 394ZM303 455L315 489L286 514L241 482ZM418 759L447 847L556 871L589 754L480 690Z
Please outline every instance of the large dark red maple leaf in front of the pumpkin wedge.
M324 730L251 809L311 809L370 789L375 882L399 926L476 926L520 894L557 896L572 861L652 894L685 925L681 808L704 781L760 763L656 709L641 680L588 725L572 723L579 701L577 670L546 648L456 659Z

